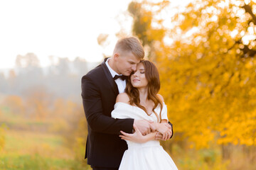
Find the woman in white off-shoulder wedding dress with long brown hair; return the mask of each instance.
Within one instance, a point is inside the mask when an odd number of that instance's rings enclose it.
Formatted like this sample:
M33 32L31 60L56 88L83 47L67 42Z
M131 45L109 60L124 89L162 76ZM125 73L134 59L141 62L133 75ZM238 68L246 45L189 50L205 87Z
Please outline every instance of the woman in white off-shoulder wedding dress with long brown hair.
M125 93L117 96L112 118L134 118L149 120L163 139L169 139L167 108L164 98L157 94L160 89L159 73L155 65L148 60L137 64L137 71L127 80ZM155 140L156 132L142 135L134 127L133 134L122 132L120 137L126 140L128 149L124 152L120 170L177 170L173 160Z

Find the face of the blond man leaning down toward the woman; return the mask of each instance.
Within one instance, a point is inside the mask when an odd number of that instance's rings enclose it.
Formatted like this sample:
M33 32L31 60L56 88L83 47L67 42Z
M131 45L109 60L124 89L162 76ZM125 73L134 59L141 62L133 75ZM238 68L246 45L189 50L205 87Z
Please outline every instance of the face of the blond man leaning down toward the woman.
M122 52L115 56L117 73L129 76L136 70L139 59L132 52Z

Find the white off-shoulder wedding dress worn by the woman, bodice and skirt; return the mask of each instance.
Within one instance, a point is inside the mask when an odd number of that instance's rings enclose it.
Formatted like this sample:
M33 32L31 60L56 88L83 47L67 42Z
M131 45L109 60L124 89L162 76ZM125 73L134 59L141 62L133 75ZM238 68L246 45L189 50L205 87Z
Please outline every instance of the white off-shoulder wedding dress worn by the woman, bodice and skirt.
M160 107L155 109L160 113ZM137 120L156 121L156 115L147 115L141 108L127 103L118 102L114 105L112 118L134 118ZM167 108L164 104L161 119L167 118ZM124 152L119 170L178 170L169 154L161 147L158 140L145 143L127 141L128 149Z

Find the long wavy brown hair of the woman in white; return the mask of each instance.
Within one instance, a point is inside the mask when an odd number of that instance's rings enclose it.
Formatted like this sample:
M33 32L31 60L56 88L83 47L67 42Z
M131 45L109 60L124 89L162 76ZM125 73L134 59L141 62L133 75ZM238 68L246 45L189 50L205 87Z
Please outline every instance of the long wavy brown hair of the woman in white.
M148 60L142 60L140 63L142 63L144 65L145 77L146 77L146 80L148 81L147 99L154 102L153 112L156 115L157 121L161 123L161 111L163 109L163 103L157 96L157 94L160 90L159 72L153 62L150 62ZM134 74L134 73L132 73L132 74ZM146 108L140 104L138 89L134 88L134 86L132 86L132 83L131 83L132 74L127 79L127 87L125 89L125 92L129 96L129 102L131 105L135 105L135 106L138 106L139 108L142 108L146 112L147 115L150 115L151 113L147 113ZM161 107L161 111L159 113L160 116L154 111L154 109L159 104Z

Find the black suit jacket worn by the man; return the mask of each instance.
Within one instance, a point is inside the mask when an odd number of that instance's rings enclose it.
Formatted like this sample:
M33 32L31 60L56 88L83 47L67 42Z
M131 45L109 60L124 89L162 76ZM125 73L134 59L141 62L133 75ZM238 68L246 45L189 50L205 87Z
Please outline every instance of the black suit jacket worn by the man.
M117 168L127 149L119 132L132 133L134 119L111 118L119 91L105 61L82 77L82 103L88 125L85 158L92 166Z

